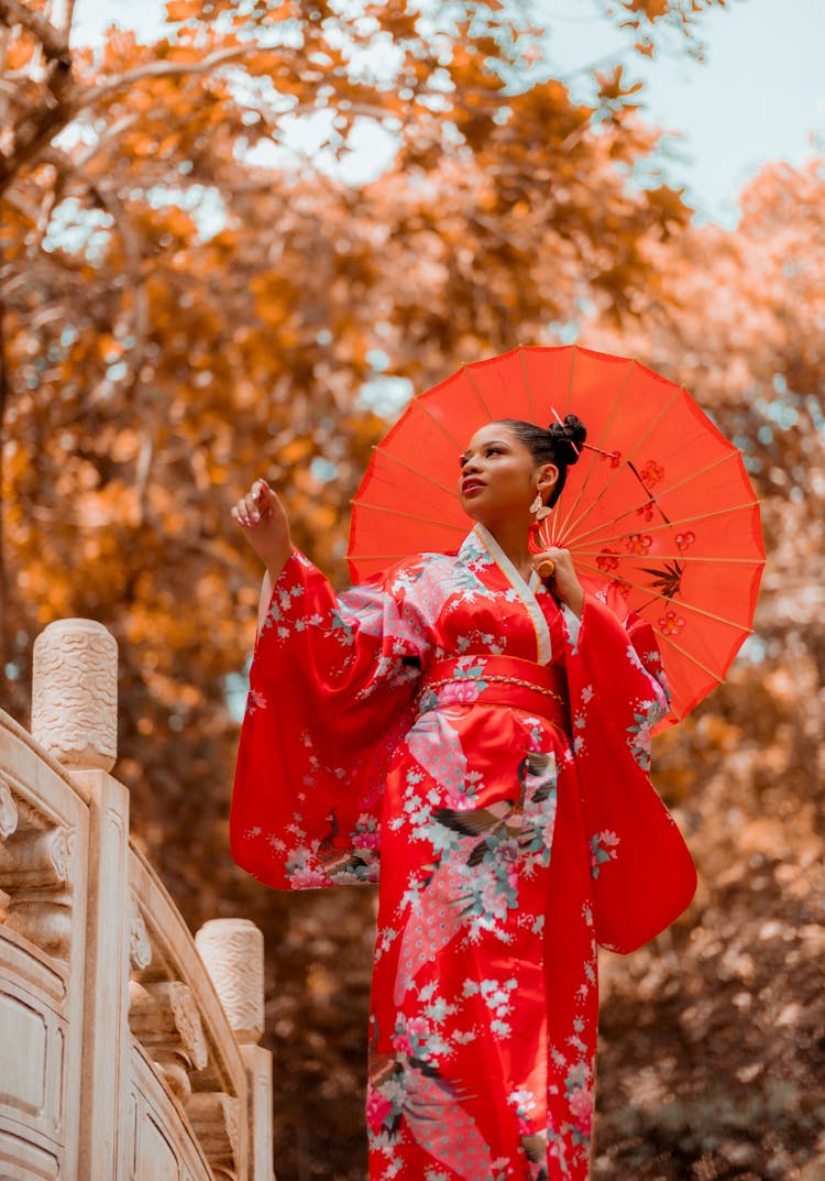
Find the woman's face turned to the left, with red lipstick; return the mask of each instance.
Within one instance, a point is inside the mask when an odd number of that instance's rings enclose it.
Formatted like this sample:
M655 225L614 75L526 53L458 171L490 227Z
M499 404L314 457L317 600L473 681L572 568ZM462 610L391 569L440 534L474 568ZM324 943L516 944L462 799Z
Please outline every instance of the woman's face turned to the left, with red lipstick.
M558 476L552 464L537 468L525 444L500 423L487 423L476 431L460 465L461 505L482 524L519 517L529 523L539 485L546 496Z

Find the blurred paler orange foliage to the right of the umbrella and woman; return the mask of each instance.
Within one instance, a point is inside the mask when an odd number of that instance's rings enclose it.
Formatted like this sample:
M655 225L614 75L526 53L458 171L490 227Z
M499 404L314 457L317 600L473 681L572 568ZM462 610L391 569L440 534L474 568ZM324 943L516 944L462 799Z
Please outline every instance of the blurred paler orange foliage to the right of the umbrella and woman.
M611 1181L821 1167L824 177L821 157L768 165L734 231L655 248L660 282L622 338L742 448L768 567L744 659L654 752L701 888L669 935L608 972L597 1175Z

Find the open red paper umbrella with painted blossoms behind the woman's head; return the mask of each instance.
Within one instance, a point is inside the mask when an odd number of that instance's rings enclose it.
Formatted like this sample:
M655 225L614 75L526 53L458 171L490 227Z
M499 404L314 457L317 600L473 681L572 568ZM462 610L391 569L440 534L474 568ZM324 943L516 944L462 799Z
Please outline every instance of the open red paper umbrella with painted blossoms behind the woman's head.
M683 386L639 361L577 345L519 347L413 398L353 502L353 579L458 548L473 523L458 456L479 426L567 413L585 424L588 445L543 540L570 549L580 575L613 583L653 625L677 720L725 678L749 634L765 548L738 449Z

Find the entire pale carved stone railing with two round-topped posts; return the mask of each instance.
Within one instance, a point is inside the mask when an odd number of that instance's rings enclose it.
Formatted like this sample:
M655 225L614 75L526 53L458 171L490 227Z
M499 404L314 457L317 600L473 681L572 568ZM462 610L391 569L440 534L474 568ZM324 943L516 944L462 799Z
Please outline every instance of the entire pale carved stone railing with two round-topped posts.
M0 711L0 1177L274 1181L263 939L195 939L129 840L117 646L34 646L32 735Z

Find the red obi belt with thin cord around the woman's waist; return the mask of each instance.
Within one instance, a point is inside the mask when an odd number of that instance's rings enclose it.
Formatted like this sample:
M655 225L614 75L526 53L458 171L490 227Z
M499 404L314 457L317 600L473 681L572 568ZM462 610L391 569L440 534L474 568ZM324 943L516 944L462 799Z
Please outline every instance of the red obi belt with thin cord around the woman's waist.
M472 655L439 660L423 673L415 693L419 713L447 705L476 704L526 710L570 733L563 668L517 657Z

